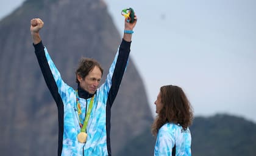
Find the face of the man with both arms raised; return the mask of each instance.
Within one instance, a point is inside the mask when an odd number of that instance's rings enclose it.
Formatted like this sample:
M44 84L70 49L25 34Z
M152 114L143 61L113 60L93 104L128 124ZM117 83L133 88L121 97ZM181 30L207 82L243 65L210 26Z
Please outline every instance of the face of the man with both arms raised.
M95 93L98 89L99 83L101 82L102 73L99 67L95 66L91 72L82 79L81 76L77 75L80 87L86 90L88 93Z

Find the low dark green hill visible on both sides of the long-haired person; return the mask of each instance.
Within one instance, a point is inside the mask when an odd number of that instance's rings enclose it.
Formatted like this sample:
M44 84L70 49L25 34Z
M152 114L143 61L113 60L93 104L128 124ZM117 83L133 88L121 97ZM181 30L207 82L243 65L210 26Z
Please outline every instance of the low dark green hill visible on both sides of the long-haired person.
M146 133L133 137L118 155L154 155L155 137L148 134L151 127L145 129ZM256 155L256 124L244 118L227 114L195 117L190 131L194 156Z

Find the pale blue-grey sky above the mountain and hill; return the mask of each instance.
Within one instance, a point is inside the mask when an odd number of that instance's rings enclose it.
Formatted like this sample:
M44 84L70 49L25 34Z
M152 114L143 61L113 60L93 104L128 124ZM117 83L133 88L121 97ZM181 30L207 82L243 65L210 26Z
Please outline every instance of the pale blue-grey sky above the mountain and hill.
M1 1L0 19L24 0ZM195 116L226 113L256 123L256 1L105 0L123 35L121 10L138 16L130 57L148 101L161 86L182 87Z

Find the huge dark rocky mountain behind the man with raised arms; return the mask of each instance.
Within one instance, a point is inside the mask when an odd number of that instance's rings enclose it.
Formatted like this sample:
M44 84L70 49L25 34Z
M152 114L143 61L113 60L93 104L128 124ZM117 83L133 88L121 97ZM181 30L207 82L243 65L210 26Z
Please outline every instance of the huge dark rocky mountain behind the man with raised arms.
M44 21L40 31L43 44L63 80L74 88L74 70L81 56L97 59L104 67L105 79L121 42L107 5L101 0L29 0L2 19L1 155L57 155L57 107L35 58L29 30L32 18ZM151 123L143 82L130 59L112 107L112 154Z

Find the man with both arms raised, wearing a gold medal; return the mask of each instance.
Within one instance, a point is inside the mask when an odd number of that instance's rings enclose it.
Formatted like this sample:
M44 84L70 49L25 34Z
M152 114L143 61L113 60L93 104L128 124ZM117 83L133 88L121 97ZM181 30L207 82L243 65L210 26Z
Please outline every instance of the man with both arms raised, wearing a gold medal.
M110 109L130 53L133 28L137 23L125 20L123 41L109 69L107 79L99 87L103 69L94 59L81 59L76 70L77 89L63 82L39 31L43 21L32 19L30 32L35 47L35 55L44 80L58 107L59 147L58 155L111 155L110 149Z

